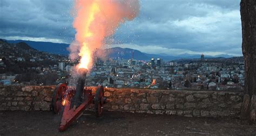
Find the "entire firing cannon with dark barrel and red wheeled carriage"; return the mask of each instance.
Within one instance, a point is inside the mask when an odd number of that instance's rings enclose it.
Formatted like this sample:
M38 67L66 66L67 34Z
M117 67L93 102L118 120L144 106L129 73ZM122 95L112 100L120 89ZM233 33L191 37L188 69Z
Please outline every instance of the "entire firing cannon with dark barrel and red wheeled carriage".
M87 71L85 68L78 69L76 88L59 83L53 92L51 107L53 113L61 116L59 131L66 130L90 104L94 104L95 116L102 116L103 104L106 103L104 87L98 85L95 94L92 94L92 89L84 88Z

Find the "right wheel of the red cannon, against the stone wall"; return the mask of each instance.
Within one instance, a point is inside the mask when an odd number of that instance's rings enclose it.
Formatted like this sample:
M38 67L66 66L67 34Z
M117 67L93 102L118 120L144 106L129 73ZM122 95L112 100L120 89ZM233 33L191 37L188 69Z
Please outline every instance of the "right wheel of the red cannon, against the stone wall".
M102 116L104 103L104 87L103 85L98 85L95 92L94 104L95 104L95 116Z

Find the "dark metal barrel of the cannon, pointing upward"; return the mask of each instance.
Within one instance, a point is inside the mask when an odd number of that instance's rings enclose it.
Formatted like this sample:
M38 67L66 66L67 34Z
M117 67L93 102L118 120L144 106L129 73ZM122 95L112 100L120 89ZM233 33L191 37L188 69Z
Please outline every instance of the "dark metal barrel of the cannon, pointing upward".
M82 96L84 90L84 83L86 80L86 74L88 70L85 68L78 69L78 80L76 84L76 94L73 98L73 106L78 107L82 103Z

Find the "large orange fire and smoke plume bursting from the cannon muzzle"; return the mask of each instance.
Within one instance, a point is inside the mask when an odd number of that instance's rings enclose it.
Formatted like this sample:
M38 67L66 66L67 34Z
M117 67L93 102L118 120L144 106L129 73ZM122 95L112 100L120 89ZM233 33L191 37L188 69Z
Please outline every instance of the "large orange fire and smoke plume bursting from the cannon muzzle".
M120 23L136 17L138 10L138 0L75 0L76 40L69 50L71 59L80 58L78 68L90 69L93 51L102 48L104 39L114 34Z

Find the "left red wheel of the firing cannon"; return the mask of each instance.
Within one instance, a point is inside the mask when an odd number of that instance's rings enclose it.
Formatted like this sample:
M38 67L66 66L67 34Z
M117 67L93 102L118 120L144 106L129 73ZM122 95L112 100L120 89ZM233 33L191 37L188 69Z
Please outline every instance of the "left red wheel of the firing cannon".
M52 101L51 101L51 107L53 113L59 113L62 109L62 99L64 97L64 93L68 89L68 86L65 83L58 83L53 95L52 95Z

